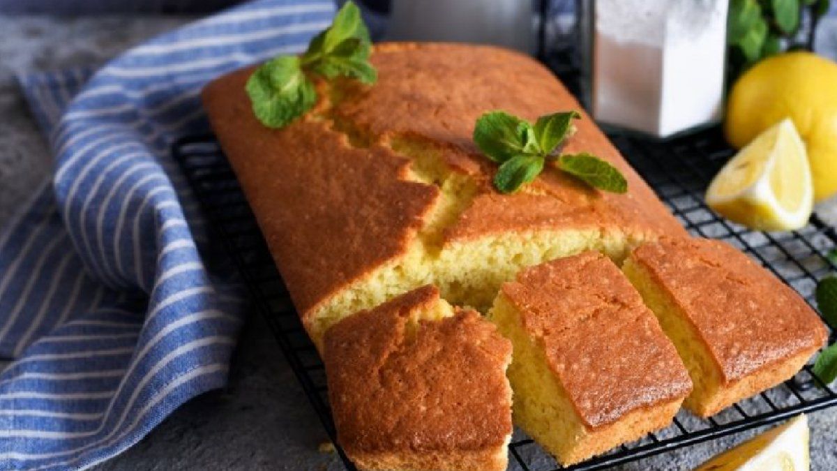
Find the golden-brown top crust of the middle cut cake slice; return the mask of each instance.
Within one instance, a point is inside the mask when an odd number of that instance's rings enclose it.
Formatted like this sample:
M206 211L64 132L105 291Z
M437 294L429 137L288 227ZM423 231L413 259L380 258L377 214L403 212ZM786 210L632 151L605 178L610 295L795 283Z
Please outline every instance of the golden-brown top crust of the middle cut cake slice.
M527 268L503 293L586 427L681 401L691 391L686 367L654 314L598 252Z

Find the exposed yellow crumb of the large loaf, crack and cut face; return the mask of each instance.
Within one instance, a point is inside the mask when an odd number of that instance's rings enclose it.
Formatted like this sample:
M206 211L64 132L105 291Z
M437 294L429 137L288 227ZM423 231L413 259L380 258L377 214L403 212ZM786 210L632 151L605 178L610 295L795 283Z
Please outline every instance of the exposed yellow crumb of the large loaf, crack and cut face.
M477 183L449 168L442 155L444 150L434 142L403 135L375 137L367 130L358 129L353 122L334 116L331 109L341 101L345 91L341 86L326 86L329 100L316 119L331 122L332 129L346 135L354 147L368 148L377 142L408 158L407 179L435 185L439 198L406 254L378 267L313 309L306 327L316 344L320 344L326 330L341 318L373 308L416 287L434 284L450 303L485 313L501 284L514 278L523 267L587 250L603 252L620 262L646 239L618 229L578 228L528 230L443 243L444 230L454 224L478 193ZM537 189L525 185L521 192L534 193Z

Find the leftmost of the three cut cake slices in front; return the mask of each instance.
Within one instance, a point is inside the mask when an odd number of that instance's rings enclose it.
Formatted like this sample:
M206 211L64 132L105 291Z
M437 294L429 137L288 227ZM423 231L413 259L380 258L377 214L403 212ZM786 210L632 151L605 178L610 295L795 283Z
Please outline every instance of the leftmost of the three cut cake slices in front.
M361 469L504 470L511 344L426 286L326 332L337 440Z

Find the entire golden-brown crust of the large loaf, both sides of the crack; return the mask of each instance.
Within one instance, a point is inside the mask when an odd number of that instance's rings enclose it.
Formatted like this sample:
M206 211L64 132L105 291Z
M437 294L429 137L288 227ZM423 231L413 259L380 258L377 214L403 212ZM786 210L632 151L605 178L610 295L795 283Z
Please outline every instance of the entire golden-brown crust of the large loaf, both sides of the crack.
M405 181L408 160L388 146L396 137L443 149L454 171L470 175L480 194L444 241L533 229L619 230L683 235L647 185L588 116L567 152L608 159L629 180L629 193L604 194L547 169L528 193L501 195L490 185L496 164L476 152L475 120L504 109L527 119L578 103L535 60L506 49L463 44L383 44L372 62L372 87L338 80L319 84L316 112L280 130L262 126L244 83L252 68L225 75L203 91L218 135L253 206L296 308L309 316L352 282L403 255L439 189ZM358 135L352 147L346 136ZM358 142L355 142L356 144Z

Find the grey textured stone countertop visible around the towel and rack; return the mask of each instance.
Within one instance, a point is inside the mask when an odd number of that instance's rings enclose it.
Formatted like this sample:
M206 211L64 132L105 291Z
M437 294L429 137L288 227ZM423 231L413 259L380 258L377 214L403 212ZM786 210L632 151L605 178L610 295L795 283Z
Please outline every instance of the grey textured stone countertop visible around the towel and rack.
M13 74L101 63L189 19L0 16L0 227L50 167L46 144ZM819 43L837 44L837 28L829 31L834 34L819 34ZM819 211L825 218L837 220L837 204L826 204ZM208 393L183 406L141 443L96 469L342 468L334 453L318 451L326 434L258 316L251 316L244 329L231 377L227 390ZM837 408L815 412L809 418L814 469L834 468ZM690 469L750 435L752 432L682 448L618 469Z

